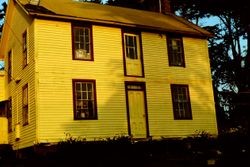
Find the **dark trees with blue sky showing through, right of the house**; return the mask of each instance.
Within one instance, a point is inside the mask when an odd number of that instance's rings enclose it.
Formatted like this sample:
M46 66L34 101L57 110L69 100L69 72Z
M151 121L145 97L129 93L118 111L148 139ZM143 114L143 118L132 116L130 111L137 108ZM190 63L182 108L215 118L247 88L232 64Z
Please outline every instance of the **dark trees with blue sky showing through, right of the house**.
M247 114L250 107L249 4L243 0L237 3L227 0L173 0L172 7L195 24L203 18L218 20L217 24L204 27L215 35L209 39L209 55L218 119L227 117L244 126L239 118L247 118L245 128L250 129ZM242 94L246 98L242 98Z

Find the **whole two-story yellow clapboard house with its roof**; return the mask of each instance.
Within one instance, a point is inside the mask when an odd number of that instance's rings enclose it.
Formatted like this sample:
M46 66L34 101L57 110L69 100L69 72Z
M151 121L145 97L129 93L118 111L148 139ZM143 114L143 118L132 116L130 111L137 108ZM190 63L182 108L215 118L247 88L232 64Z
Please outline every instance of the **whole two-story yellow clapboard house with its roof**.
M217 135L208 37L171 13L9 0L0 45L9 143Z

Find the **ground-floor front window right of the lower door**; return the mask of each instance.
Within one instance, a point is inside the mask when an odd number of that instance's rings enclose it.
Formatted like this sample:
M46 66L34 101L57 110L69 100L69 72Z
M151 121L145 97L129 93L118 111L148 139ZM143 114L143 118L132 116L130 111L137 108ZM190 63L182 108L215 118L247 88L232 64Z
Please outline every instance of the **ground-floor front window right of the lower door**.
M171 85L174 119L192 119L188 85Z

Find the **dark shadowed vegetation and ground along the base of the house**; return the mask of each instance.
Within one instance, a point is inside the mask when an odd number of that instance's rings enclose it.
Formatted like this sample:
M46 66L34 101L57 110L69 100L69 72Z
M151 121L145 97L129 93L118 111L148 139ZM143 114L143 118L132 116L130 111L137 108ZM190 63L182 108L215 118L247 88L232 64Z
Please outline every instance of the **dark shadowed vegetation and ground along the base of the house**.
M207 132L184 139L134 141L115 136L97 141L67 135L56 145L39 144L22 150L22 156L8 165L17 166L142 166L142 167L216 167L250 165L250 138L239 131L217 138ZM19 150L19 153L21 150ZM17 152L18 153L18 152ZM13 154L12 154L13 155ZM2 164L1 164L2 163ZM4 159L0 165L7 164Z

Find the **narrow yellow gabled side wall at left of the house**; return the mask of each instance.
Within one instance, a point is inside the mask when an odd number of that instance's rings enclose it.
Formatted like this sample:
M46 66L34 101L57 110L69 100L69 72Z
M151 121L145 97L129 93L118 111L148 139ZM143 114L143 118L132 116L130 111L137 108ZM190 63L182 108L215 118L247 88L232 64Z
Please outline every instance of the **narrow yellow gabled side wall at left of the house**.
M9 39L5 53L5 69L8 69L8 52L12 52L12 76L8 82L6 77L5 84L7 87L6 98L12 99L12 132L9 133L9 143L14 149L21 149L33 145L36 135L36 113L35 113L35 59L34 59L34 26L32 20L27 17L15 4L13 8L11 22L5 23L10 29ZM23 50L22 36L27 31L27 52L28 65L23 67ZM20 82L16 82L20 80ZM23 86L28 84L28 125L23 126L22 115L22 90ZM17 127L17 125L20 125ZM19 131L20 130L20 131ZM19 135L20 136L16 136ZM20 137L16 140L16 137Z

